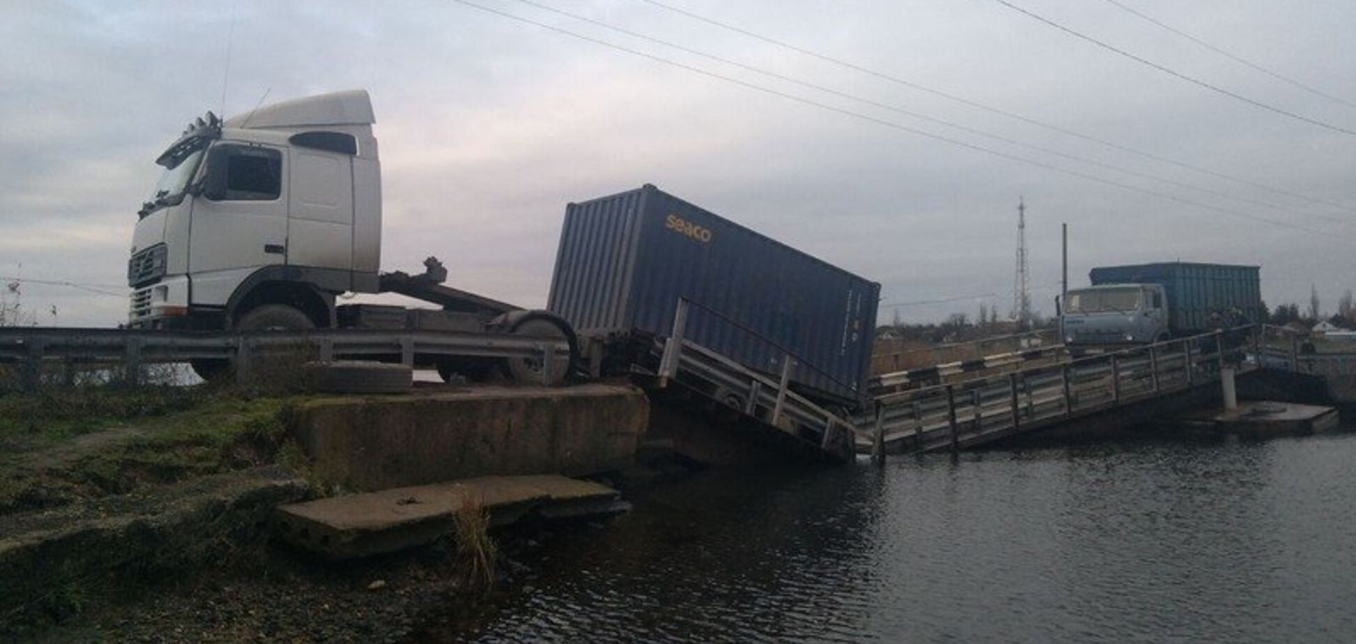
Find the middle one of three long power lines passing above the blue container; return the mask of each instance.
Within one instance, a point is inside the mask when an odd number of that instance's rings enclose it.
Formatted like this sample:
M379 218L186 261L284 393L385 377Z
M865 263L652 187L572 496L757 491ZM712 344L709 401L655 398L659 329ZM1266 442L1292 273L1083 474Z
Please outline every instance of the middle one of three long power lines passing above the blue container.
M1252 203L1254 206L1261 206L1261 207L1267 207L1267 209L1281 212L1281 213L1287 213L1287 214L1294 213L1292 209L1287 209L1284 206L1279 206L1276 203L1265 202L1265 201L1261 201L1261 199L1253 199L1253 198L1249 198L1249 197L1239 197L1239 195L1234 195L1234 194L1229 194L1229 193L1222 193L1222 191L1218 191L1218 190L1204 188L1204 187L1195 186L1195 184L1191 184L1191 183L1178 182L1176 179L1168 179L1168 178L1163 178L1163 176L1158 176L1158 175L1154 175L1151 172L1140 172L1140 171L1130 169L1130 168L1125 168L1125 167L1121 167L1121 165L1115 165L1115 164L1098 161L1096 159L1089 159L1089 157L1083 157L1083 156L1078 156L1078 155L1069 155L1069 153L1064 153L1064 152L1060 152L1060 150L1056 150L1056 149L1044 148L1044 146L1040 146L1040 145L1026 144L1026 142L1022 142L1022 141L1018 141L1018 140L1014 140L1014 138L1010 138L1010 137L1005 137L1005 136L1001 136L1001 134L994 134L994 133L984 132L984 130L980 130L980 129L976 129L976 127L968 127L968 126L959 125L959 123L955 123L955 122L951 122L951 121L945 121L945 119L929 117L926 114L921 114L921 113L915 113L915 111L911 111L911 110L906 110L906 108L895 106L895 104L881 103L879 100L872 100L872 99L866 99L866 98L857 96L857 95L853 95L853 94L842 92L842 91L834 89L831 87L820 85L820 84L816 84L816 83L808 83L808 81L804 81L804 80L800 80L800 79L796 79L796 77L792 77L792 76L786 76L786 75L772 72L772 71L762 69L762 68L758 68L758 66L747 65L747 64L743 64L743 62L739 62L739 61L734 61L734 60L730 60L730 58L723 58L720 56L709 54L706 52L701 52L701 50L693 49L693 47L689 47L686 45L679 45L679 43L675 43L675 42L670 42L670 41L664 41L664 39L660 39L660 38L655 38L655 37L651 37L651 35L647 35L647 34L641 34L639 31L633 31L633 30L629 30L629 28L625 28L625 27L618 27L616 24L610 24L610 23L602 22L602 20L595 20L593 18L582 16L579 14L572 14L572 12L568 12L568 11L564 11L564 9L549 7L549 5L545 5L545 4L541 4L541 3L537 3L537 1L533 1L533 0L518 0L518 1L522 3L522 4L530 5L530 7L540 8L542 11L549 11L552 14L574 19L574 20L579 20L579 22L584 22L584 23L594 24L594 26L598 26L598 27L603 27L606 30L616 31L618 34L625 34L625 35L629 35L629 37L633 37L633 38L640 38L640 39L644 39L644 41L655 42L655 43L663 45L666 47L673 47L673 49L677 49L679 52L685 52L685 53L689 53L689 54L693 54L693 56L700 56L702 58L712 60L712 61L716 61L716 62L720 62L720 64L724 64L724 65L736 66L739 69L746 69L746 71L750 71L750 72L754 72L754 73L758 73L758 75L762 75L762 76L766 76L766 77L770 77L770 79L777 79L777 80L781 80L781 81L793 83L793 84L797 84L800 87L807 87L807 88L811 88L811 89L815 89L815 91L820 91L820 92L824 92L824 94L830 94L830 95L834 95L834 96L845 98L845 99L849 99L849 100L856 100L858 103L869 104L872 107L879 107L881 110L888 110L888 111L894 111L896 114L903 114L903 115L913 117L913 118L917 118L917 119L928 121L928 122L937 123L937 125L941 125L944 127L951 127L951 129L955 129L955 130L959 130L959 132L964 132L964 133L968 133L968 134L975 134L975 136L990 138L990 140L994 140L994 141L1002 141L1005 144L1016 145L1018 148L1025 148L1025 149L1041 152L1041 153L1045 153L1045 155L1051 155L1051 156L1058 156L1058 157L1062 157L1062 159L1067 159L1067 160L1071 160L1071 161L1078 161L1078 163L1085 163L1085 164L1096 165L1096 167L1105 168L1105 169L1112 169L1112 171L1116 171L1116 172L1121 172L1121 174L1130 175L1130 176L1136 176L1136 178L1140 178L1140 179L1149 179L1149 180L1165 183L1168 186L1174 186L1174 187L1178 187L1178 188L1193 190L1193 191L1197 191L1197 193L1201 193L1201 194L1208 194L1208 195L1212 195L1212 197L1220 197L1220 198L1224 198L1224 199L1234 199L1234 201L1243 202L1243 203ZM1329 216L1325 216L1325 214L1318 214L1318 213L1303 213L1303 214L1309 214L1311 217L1321 218L1321 220L1325 220L1325 221L1330 221L1330 222L1334 222L1334 224L1356 225L1356 222L1353 222L1351 220L1344 220L1344 218L1337 218L1337 217L1329 217Z

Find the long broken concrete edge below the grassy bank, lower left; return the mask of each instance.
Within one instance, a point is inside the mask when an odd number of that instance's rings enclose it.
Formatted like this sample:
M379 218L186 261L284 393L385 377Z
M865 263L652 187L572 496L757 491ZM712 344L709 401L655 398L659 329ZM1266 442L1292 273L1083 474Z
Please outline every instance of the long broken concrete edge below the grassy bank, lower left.
M122 582L182 575L263 542L273 508L309 494L305 480L266 466L9 515L0 529L0 633L60 620Z

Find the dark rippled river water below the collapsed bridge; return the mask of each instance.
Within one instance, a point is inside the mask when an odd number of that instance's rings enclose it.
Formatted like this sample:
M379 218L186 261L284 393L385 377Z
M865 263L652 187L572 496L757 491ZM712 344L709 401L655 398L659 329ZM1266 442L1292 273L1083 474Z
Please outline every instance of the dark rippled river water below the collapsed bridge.
M1356 641L1356 435L705 472L441 641Z

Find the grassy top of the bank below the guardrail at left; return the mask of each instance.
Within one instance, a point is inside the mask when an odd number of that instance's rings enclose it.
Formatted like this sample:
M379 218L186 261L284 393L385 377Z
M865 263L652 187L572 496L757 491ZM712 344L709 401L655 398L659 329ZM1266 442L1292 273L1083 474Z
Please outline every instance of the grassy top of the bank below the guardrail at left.
M290 401L210 386L0 395L0 515L279 461L300 465L286 441Z

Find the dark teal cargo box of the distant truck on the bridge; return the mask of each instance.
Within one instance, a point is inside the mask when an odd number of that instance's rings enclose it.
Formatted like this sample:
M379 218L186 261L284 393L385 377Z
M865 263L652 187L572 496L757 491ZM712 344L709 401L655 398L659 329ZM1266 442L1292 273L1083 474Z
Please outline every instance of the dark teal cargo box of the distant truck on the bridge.
M1162 262L1093 268L1093 286L1159 283L1168 296L1169 327L1177 334L1207 331L1210 315L1238 308L1260 321L1262 296L1256 266Z

